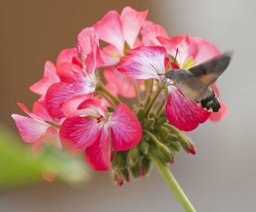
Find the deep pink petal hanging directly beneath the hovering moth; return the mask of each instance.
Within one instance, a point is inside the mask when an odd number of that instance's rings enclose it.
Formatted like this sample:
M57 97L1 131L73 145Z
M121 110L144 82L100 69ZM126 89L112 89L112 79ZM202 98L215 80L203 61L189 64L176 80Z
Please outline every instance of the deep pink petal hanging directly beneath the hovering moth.
M165 106L166 117L178 129L194 130L200 123L206 122L210 112L197 108L192 101L182 95L176 87L168 87L169 95Z

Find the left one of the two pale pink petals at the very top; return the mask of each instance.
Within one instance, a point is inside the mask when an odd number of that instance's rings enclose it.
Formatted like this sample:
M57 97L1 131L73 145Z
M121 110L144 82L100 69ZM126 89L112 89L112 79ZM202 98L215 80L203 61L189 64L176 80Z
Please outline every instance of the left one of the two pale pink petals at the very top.
M108 12L102 20L94 24L94 29L102 41L113 44L123 52L124 34L121 18L116 10Z

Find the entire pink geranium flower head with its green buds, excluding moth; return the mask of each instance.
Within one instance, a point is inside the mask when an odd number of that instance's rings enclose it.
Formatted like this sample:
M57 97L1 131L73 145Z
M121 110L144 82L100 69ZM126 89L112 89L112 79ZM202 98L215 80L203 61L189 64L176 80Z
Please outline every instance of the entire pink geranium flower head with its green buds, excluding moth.
M217 113L206 111L159 75L214 58L221 54L217 47L189 35L169 38L162 26L146 20L147 13L131 7L121 15L110 11L80 31L77 47L61 51L56 64L45 63L44 76L30 87L40 95L33 112L18 103L29 117L12 114L23 140L34 143L35 156L49 143L72 154L84 151L91 168L111 168L121 185L130 173L148 173L151 149L164 162L173 162L181 148L195 154L181 130L224 117L224 103ZM99 41L108 44L99 47ZM54 174L45 178L51 181Z

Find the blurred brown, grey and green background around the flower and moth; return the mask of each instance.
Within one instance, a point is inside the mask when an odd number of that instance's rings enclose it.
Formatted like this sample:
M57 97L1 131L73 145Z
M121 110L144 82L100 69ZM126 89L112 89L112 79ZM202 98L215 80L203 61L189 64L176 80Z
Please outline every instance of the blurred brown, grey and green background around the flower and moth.
M254 211L254 0L1 0L0 211L182 211L155 168L148 177L123 187L113 186L110 173L96 173L85 165L65 170L81 171L86 178L82 184L43 181L39 165L31 162L31 146L21 141L10 117L23 114L17 102L32 108L38 96L29 86L41 79L46 60L55 62L61 50L75 47L82 28L110 9L121 12L125 6L148 9L148 19L162 25L170 37L200 36L222 52L234 50L232 63L217 83L229 114L187 133L197 154L178 154L170 168L197 211Z

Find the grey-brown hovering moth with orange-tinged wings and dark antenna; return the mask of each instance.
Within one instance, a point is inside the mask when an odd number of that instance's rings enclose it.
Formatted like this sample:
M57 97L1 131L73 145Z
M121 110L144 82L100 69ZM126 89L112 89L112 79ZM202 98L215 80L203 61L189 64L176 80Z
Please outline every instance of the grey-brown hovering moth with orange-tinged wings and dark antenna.
M178 49L176 56L178 54ZM203 109L217 112L220 109L219 99L210 87L226 70L233 53L226 52L222 55L207 60L197 66L185 69L173 69L167 71L166 78L171 79L180 92L193 103L203 106ZM176 58L173 61L175 63Z

